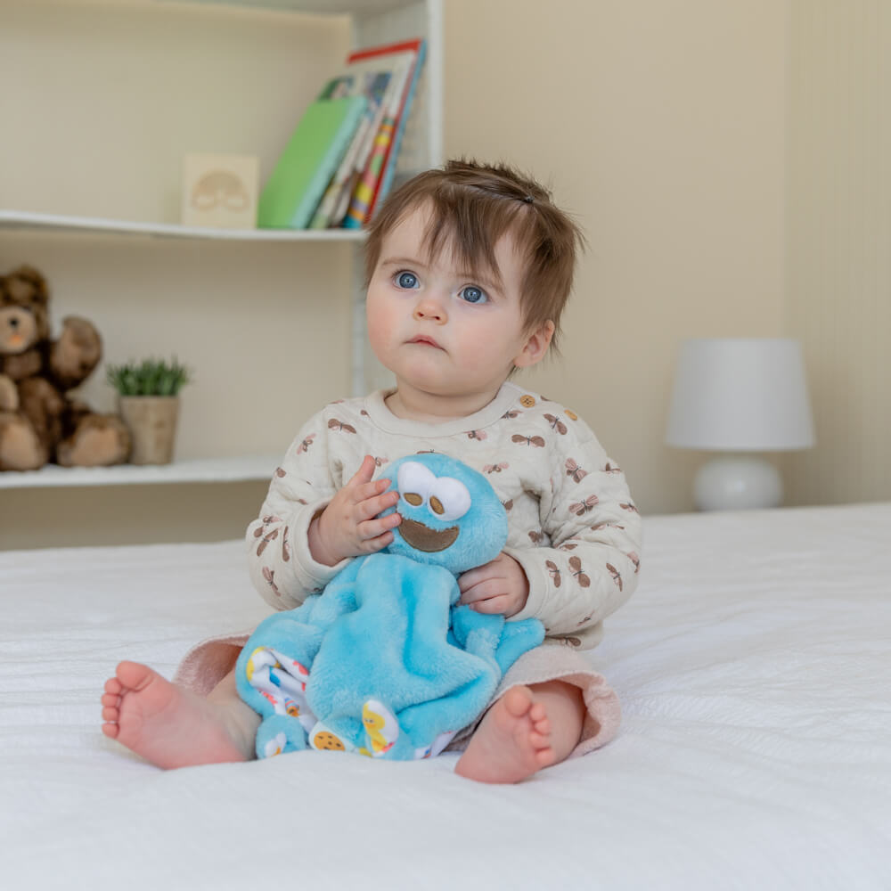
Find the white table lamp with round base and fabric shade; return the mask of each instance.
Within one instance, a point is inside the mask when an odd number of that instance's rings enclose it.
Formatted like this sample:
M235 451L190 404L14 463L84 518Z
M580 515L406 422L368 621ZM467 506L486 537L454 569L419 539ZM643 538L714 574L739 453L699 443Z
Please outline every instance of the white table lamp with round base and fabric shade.
M779 472L757 452L813 446L805 363L797 340L684 340L674 378L666 443L723 452L694 483L701 511L776 507Z

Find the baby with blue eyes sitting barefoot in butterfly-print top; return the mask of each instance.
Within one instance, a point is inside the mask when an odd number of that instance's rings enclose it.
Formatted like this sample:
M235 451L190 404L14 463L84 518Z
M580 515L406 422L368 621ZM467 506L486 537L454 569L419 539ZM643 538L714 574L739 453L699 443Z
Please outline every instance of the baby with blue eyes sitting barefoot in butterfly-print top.
M582 239L535 181L452 161L403 185L366 242L368 338L396 386L326 406L299 430L248 527L249 572L275 609L380 551L401 522L375 479L439 452L485 474L507 511L498 557L459 577L482 613L537 617L544 643L504 675L449 748L455 770L517 782L609 741L616 695L579 650L633 593L640 516L622 471L575 413L509 379L555 348ZM102 730L161 767L253 757L256 715L235 689L247 635L204 642L175 681L123 662Z

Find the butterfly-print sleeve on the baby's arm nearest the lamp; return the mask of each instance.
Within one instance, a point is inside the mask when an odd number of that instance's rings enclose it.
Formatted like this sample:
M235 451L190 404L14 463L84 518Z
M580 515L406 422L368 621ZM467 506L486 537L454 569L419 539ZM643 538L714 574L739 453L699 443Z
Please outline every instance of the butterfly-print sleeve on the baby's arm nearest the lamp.
M529 580L526 606L512 618L539 618L549 635L601 623L634 592L640 568L641 516L625 474L582 421L578 434L552 447L538 493L549 545L507 549Z

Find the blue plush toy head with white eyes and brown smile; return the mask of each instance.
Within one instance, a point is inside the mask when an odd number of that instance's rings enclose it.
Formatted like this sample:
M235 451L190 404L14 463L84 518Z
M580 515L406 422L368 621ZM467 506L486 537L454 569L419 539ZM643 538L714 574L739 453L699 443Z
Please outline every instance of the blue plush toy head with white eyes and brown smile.
M381 477L399 492L402 523L389 553L442 566L455 575L495 557L507 541L507 516L488 480L444 454L416 454L389 464ZM388 490L389 491L389 490Z

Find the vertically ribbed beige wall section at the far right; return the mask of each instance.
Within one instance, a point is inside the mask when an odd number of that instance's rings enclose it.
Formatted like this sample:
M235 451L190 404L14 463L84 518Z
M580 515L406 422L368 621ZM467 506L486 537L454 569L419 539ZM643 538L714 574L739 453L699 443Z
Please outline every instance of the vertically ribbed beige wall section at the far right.
M891 498L891 5L793 0L789 329L805 343L817 448L800 503Z

